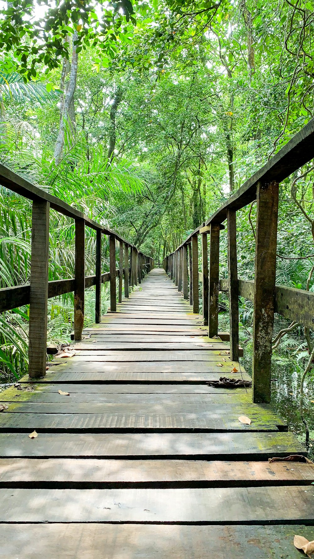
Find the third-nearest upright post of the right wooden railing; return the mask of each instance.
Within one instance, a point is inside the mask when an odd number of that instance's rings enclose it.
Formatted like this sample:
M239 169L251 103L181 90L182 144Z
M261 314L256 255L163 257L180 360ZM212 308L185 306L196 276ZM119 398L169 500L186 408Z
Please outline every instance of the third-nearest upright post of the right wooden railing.
M220 225L211 223L208 295L208 335L210 338L218 335L219 235Z

